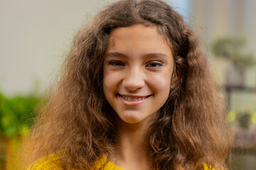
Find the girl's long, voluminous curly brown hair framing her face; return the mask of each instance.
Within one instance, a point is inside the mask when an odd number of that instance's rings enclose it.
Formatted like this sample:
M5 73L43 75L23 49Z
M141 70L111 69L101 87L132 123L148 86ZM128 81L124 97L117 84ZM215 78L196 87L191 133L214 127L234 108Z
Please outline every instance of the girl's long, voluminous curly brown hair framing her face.
M123 0L104 8L75 35L60 77L26 143L27 164L50 153L63 169L93 169L117 146L117 123L102 90L105 52L114 28L156 26L174 54L174 89L147 132L152 169L227 169L230 131L225 104L191 28L157 0ZM103 168L103 167L102 167Z

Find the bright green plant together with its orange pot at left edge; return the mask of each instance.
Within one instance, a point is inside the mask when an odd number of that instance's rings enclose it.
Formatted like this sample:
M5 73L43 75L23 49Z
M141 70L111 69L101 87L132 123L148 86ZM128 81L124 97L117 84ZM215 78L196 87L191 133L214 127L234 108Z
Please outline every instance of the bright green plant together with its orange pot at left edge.
M38 98L33 95L7 98L0 93L0 169L17 169L14 160L19 140L33 124L37 103Z

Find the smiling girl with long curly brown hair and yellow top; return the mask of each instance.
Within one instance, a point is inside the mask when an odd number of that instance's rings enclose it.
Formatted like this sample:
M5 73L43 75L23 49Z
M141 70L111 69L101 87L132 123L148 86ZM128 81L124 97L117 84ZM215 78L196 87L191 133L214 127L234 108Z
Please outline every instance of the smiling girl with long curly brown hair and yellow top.
M75 36L29 169L227 169L230 132L198 39L162 1L117 1Z

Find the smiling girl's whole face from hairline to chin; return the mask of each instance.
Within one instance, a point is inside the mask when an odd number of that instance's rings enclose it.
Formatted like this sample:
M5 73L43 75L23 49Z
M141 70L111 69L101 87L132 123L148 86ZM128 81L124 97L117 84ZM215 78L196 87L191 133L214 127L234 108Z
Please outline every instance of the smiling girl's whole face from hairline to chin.
M105 97L124 122L150 120L169 97L173 68L171 48L155 26L116 28L104 62Z

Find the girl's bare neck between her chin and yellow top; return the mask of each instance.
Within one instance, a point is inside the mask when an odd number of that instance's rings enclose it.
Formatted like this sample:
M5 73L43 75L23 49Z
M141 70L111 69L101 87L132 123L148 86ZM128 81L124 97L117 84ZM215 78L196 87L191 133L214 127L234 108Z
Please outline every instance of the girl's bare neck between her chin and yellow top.
M122 169L149 169L146 153L146 132L149 125L149 122L119 121L119 145L114 156L117 157L117 166Z

